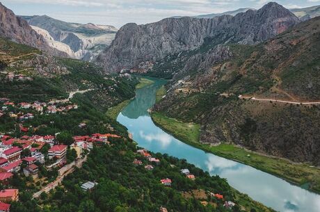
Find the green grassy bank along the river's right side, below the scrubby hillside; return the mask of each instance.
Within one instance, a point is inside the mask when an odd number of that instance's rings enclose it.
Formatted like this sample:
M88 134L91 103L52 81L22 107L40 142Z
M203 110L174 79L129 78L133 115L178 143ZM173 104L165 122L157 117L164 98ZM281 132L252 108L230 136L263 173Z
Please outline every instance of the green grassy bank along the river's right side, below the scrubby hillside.
M285 179L303 188L309 184L308 190L314 193L320 193L320 170L318 168L312 168L305 163L291 163L283 158L265 156L230 144L217 146L202 144L199 142L199 139L196 139L197 136L198 138L200 137L200 126L198 124L184 123L166 117L161 113L151 113L151 117L158 127L161 127L188 145L202 149L205 152L211 152L223 158L250 165L253 168L273 174L276 177ZM179 131L179 129L182 129L182 131ZM195 136L196 131L198 131L197 136Z

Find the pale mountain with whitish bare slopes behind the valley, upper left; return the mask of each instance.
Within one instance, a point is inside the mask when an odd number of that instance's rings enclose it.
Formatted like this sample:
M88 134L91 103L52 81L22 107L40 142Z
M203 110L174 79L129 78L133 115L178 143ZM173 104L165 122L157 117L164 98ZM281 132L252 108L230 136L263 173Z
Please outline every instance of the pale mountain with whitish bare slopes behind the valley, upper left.
M22 16L22 18L26 19L36 31L45 35L51 47L83 60L92 60L97 56L111 44L118 30L108 25L62 22L47 15Z

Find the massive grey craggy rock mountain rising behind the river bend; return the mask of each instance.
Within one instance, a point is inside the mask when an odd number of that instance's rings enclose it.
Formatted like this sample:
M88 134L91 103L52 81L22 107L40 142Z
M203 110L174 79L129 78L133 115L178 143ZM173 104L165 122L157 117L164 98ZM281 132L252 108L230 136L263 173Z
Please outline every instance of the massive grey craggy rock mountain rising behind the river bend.
M97 57L107 72L123 69L147 71L166 56L199 48L207 40L215 44L255 44L282 33L299 19L278 3L232 17L212 19L168 18L160 22L126 24L115 40Z

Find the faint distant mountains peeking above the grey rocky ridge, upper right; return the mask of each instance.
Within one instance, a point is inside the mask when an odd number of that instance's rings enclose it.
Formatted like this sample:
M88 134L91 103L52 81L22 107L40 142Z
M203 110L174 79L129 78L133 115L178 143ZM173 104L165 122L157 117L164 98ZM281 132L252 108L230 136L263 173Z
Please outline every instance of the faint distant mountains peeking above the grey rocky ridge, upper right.
M197 17L197 18L212 18L216 16L221 16L221 15L237 15L238 13L245 13L248 10L256 10L255 8L239 8L238 10L232 10L232 11L227 11L225 13L211 13L211 14L205 14L205 15L196 15L192 17ZM310 19L312 17L317 17L320 15L320 6L312 6L312 7L307 7L307 8L294 8L294 9L289 9L291 13L294 13L297 17L302 19L303 21ZM180 18L182 16L175 16L175 18Z

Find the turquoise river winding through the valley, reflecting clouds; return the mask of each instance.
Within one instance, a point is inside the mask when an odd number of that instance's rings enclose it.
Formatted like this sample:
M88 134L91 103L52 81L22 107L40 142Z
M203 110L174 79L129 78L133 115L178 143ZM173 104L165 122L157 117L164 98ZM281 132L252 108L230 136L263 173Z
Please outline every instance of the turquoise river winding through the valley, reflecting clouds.
M118 122L125 125L138 145L152 152L161 152L185 158L212 175L227 179L229 184L281 212L319 212L320 195L289 184L287 181L248 165L237 163L214 154L206 153L157 127L147 112L156 101L156 91L166 83L160 79L136 91L133 99L118 115Z

